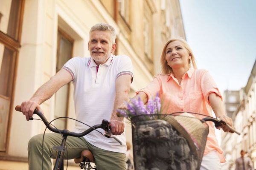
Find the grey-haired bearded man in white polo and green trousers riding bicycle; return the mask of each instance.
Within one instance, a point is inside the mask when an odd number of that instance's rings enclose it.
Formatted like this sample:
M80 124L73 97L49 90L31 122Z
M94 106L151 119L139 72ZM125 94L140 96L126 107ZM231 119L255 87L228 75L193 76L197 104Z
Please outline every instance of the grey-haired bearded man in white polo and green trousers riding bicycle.
M116 108L128 101L128 93L133 78L131 59L127 56L113 56L116 49L116 32L105 23L99 23L90 29L88 49L90 58L74 57L58 73L42 85L29 101L22 102L21 111L26 120L33 111L41 111L40 104L49 99L63 85L73 82L76 119L88 125L100 124L102 119L110 120L111 133L123 145L114 139L108 139L95 130L88 135L76 138L68 136L66 146L68 159L81 156L82 150L90 150L95 158L98 170L125 170L126 146L124 122L116 116ZM75 132L88 127L76 122ZM57 151L52 147L60 145L62 138L57 133L48 133L44 138L44 170L51 169L51 159ZM29 141L29 170L41 169L42 134ZM64 154L67 159L67 153Z

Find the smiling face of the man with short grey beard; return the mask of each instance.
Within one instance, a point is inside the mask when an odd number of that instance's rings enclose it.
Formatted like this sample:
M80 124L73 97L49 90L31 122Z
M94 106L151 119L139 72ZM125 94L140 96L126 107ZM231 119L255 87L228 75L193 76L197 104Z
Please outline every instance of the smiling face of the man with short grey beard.
M112 44L112 34L110 31L93 31L90 33L88 50L97 65L104 64L111 53L116 49L116 44Z

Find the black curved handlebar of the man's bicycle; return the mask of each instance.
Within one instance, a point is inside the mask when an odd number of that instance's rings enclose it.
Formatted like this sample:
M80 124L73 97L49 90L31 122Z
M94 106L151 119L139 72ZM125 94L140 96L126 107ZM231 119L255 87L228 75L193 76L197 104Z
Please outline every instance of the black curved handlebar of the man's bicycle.
M17 105L15 107L15 110L16 111L20 111L21 112L21 107L19 105ZM108 120L105 120L103 119L102 120L102 124L99 124L99 125L94 125L92 127L90 127L89 129L85 130L84 132L81 132L81 133L76 133L76 132L70 132L69 130L67 129L64 129L64 130L60 130L60 129L57 129L55 127L52 127L52 125L50 125L50 123L48 122L48 120L46 119L46 117L44 116L43 113L41 113L40 111L37 111L35 109L34 113L33 114L37 114L41 119L42 121L44 122L44 125L46 125L46 127L51 130L52 132L55 132L55 133L61 133L63 135L66 135L66 136L74 136L74 137L82 137L82 136L85 136L87 135L88 133L92 132L93 130L95 129L98 129L98 128L102 128L103 130L105 130L107 133L102 133L103 136L107 137L107 138L113 138L115 139L117 142L119 142L120 145L122 145L122 142L117 139L115 136L112 136L111 133L109 133L111 131L111 127L110 127L110 122L108 122ZM33 120L30 119L30 120Z

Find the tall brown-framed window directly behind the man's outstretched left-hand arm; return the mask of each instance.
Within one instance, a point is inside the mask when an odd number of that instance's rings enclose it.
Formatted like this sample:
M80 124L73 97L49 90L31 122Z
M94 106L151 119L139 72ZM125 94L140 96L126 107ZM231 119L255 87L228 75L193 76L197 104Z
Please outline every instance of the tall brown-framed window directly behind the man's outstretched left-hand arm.
M74 40L60 28L58 29L58 47L57 47L57 62L56 72L72 57ZM55 118L67 116L68 98L70 84L64 85L55 94ZM57 119L55 126L60 129L65 129L67 119Z

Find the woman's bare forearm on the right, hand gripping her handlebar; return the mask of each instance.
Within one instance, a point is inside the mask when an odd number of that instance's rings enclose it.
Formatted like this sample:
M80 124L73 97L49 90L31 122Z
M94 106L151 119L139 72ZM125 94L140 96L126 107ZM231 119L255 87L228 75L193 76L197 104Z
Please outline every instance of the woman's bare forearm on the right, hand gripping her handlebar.
M225 108L221 101L221 98L215 93L211 93L209 94L209 102L216 117L219 117L221 120L225 121L227 124L229 124L232 127L233 121L230 117L226 116ZM225 132L230 131L230 129L228 129L225 125L221 125L221 128ZM218 129L220 129L220 127L218 127Z

